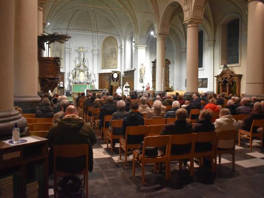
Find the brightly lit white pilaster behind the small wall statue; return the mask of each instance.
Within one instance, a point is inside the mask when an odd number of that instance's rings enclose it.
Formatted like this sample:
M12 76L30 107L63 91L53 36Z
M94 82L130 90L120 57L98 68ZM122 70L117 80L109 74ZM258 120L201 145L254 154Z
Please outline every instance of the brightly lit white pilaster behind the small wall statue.
M143 63L143 65L146 66L145 64L146 46L147 45L144 44L134 45L133 65L134 68L137 68L134 73L134 91L142 91L143 83L140 83L140 65ZM145 73L145 75L147 74Z

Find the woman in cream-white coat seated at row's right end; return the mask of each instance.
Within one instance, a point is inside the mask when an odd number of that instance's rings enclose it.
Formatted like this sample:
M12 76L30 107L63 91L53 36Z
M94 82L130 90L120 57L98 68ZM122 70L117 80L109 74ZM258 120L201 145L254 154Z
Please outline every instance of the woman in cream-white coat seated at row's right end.
M228 108L222 108L219 113L219 119L216 120L215 131L229 131L236 130L236 121L230 113ZM218 143L218 148L228 149L233 146L233 140L220 140Z

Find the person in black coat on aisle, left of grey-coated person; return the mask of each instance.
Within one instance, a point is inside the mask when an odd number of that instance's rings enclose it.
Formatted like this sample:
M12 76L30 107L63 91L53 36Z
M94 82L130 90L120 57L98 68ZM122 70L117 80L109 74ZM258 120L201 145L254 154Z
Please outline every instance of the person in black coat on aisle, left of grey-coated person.
M104 117L106 115L112 115L114 112L116 112L116 106L113 102L113 97L108 96L107 97L107 102L104 104L99 113L99 128L101 129L104 126ZM109 127L109 123L106 123L106 127Z

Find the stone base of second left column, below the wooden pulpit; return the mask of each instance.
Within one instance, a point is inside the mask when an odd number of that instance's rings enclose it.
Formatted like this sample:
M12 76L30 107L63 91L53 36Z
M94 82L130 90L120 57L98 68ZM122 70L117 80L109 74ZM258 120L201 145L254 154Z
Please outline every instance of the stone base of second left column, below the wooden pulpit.
M38 95L14 95L14 106L22 108L23 113L35 113L40 104L41 98Z

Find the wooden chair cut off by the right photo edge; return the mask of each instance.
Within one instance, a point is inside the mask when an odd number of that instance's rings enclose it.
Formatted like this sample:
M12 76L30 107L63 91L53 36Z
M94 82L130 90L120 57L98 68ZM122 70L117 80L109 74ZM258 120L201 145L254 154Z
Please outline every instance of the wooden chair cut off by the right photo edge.
M256 132L253 133L254 128L261 128L262 127L262 132ZM240 129L238 131L238 146L240 146L240 138L247 138L249 139L249 148L250 151L252 150L252 140L253 137L258 137L261 140L261 147L263 147L263 132L264 132L264 120L253 120L252 124L251 124L251 128L250 131L245 131Z

